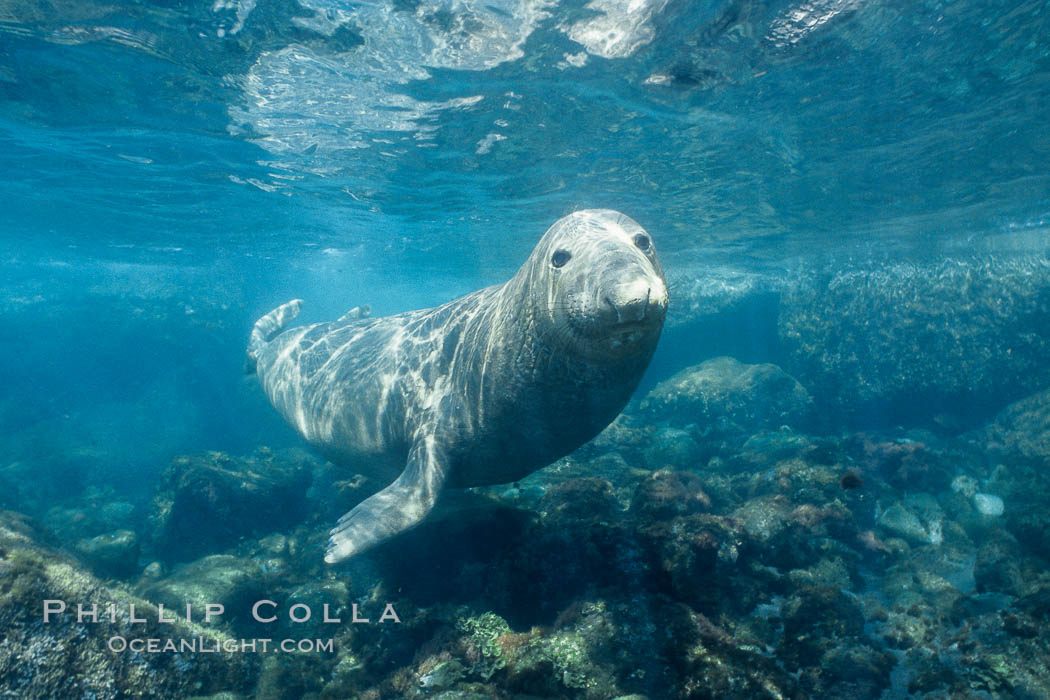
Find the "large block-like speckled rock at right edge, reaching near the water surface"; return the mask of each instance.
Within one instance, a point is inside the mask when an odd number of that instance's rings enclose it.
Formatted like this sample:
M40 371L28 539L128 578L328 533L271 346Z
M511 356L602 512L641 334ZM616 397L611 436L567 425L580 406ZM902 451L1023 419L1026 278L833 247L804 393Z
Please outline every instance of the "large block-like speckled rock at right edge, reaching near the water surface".
M1050 260L865 264L803 278L780 304L785 368L824 417L929 420L1050 386ZM916 397L923 397L916 401ZM980 410L963 422L973 424ZM1048 443L1050 444L1050 443Z

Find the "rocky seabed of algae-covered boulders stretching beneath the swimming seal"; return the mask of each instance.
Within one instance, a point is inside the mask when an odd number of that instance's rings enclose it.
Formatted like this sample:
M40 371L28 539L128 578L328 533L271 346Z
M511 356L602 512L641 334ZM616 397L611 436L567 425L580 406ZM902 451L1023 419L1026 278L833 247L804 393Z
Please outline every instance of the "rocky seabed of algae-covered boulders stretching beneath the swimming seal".
M0 515L0 690L1050 697L1050 394L964 434L818 432L779 368L705 363L336 568L328 528L381 485L298 451L180 458L150 504L103 487Z

